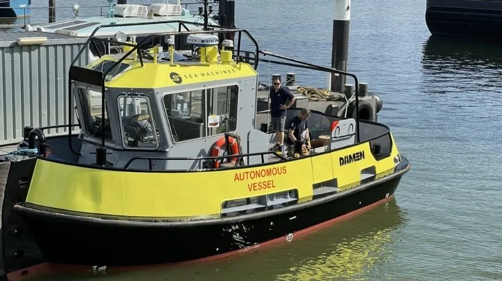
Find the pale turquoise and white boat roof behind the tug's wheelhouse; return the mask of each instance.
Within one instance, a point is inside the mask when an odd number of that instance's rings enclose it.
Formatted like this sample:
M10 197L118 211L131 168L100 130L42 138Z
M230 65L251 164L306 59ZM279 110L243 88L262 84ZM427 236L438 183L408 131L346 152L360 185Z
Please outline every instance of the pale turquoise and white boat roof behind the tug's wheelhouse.
M154 3L149 6L136 4L110 5L106 15L100 16L79 17L79 9L77 4L73 5L74 18L34 26L26 25L25 29L27 31L48 32L84 38L90 37L92 34L94 37L109 39L110 41L108 42L96 42L96 44L89 46L90 61L93 61L98 58L98 53L120 53L122 49L122 45L119 44L120 42L139 42L153 33L176 32L180 30L198 31L202 30L200 23L204 22L200 9L199 14L192 14L186 8L186 5L185 7L182 6L180 0L175 1L175 3L164 1L164 3ZM175 22L178 20L184 22L181 29ZM152 23L154 25L151 25ZM211 15L207 18L207 24L213 27L218 26L218 22ZM93 33L101 25L109 25L110 27ZM145 42L143 46L144 48L148 48L148 46L160 44L165 47L168 44L168 39L171 39L178 51L187 50L189 44L186 42L186 36L150 37L150 41ZM114 43L113 41L119 43Z

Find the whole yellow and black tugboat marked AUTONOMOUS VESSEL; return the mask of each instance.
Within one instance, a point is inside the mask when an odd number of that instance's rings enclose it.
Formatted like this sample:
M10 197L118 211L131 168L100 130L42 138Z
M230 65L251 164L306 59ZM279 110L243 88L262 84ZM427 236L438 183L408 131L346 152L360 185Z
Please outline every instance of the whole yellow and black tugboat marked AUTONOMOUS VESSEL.
M235 33L238 43L220 42L219 33ZM241 60L243 35L255 45L254 63ZM186 38L194 49L145 49L156 37ZM91 36L86 47L103 41ZM255 125L259 54L347 75L357 85L353 74L260 51L242 29L113 43L123 52L70 68L70 133L46 137L47 128L29 128L19 149L31 149L30 157L10 163L4 234L30 235L46 262L183 262L291 239L386 200L410 169L389 128L357 113L311 110L308 151L296 146L288 157L269 150L275 133ZM358 112L358 88L355 97ZM289 108L287 120L300 111ZM6 243L3 256L20 269L15 243Z

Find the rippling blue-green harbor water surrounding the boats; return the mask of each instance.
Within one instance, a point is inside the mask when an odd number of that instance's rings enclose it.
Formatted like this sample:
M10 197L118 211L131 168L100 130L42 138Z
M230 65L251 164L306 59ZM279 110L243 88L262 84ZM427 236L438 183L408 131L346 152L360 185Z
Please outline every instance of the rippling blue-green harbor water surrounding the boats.
M333 2L237 0L236 25L262 50L330 66ZM350 11L349 71L382 96L378 121L412 165L391 201L309 236L203 264L35 280L502 280L500 43L431 37L423 1L358 0ZM286 72L305 85L327 82L306 69L259 70L262 82ZM135 247L134 237L124 246Z

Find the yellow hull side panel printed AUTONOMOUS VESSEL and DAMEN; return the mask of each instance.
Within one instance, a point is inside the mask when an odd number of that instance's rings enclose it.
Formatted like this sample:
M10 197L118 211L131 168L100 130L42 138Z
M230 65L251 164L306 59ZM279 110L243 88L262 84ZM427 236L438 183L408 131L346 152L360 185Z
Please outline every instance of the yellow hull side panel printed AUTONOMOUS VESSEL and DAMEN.
M364 158L358 157L364 152ZM340 165L340 158L354 155ZM391 171L389 157L375 160L369 143L249 168L204 172L134 172L84 168L39 158L27 202L93 214L137 217L192 217L221 214L222 203L292 189L300 201L312 184L336 178L338 186L357 186L361 170ZM330 168L332 167L332 168Z

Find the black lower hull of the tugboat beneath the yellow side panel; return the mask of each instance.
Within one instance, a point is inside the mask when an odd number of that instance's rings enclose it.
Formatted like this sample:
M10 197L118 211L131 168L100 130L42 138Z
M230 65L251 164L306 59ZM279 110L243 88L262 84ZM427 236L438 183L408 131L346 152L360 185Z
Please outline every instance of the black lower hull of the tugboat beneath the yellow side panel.
M326 223L391 197L409 169L406 158L397 171L354 191L328 195L322 203L284 207L271 215L241 215L170 224L89 219L16 205L43 253L52 263L127 266L185 262L242 250ZM356 191L357 190L357 191ZM301 207L305 204L307 207Z

